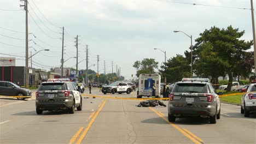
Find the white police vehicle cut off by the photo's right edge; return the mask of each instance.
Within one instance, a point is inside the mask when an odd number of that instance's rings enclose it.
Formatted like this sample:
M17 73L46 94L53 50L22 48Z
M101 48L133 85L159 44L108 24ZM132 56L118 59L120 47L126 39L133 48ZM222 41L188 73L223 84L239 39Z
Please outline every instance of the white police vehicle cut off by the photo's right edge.
M249 117L250 113L256 113L256 83L252 83L241 97L241 113Z

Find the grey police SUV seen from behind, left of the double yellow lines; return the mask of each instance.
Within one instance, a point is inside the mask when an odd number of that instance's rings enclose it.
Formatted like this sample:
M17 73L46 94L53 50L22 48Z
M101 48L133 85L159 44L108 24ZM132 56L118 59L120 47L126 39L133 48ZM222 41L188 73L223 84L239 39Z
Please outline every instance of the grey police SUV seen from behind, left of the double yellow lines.
M77 88L68 81L42 82L36 92L36 112L67 110L74 113L75 107L82 110L82 97Z

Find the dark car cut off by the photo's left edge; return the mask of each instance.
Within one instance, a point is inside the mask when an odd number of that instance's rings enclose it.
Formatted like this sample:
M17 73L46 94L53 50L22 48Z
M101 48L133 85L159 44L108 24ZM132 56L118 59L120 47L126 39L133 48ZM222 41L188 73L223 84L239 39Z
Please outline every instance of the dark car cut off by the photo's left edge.
M21 96L17 99L25 100L32 97L30 89L20 88L13 82L0 81L0 95Z

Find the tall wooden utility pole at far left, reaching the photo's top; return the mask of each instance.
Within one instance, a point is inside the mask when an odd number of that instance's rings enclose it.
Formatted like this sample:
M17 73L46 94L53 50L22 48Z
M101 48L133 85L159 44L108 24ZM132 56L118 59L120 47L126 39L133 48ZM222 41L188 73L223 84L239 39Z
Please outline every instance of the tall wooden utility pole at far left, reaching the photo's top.
M27 0L21 0L24 1L24 5L20 4L20 7L24 7L24 10L26 11L26 68L25 68L25 87L28 88L28 20L27 20Z

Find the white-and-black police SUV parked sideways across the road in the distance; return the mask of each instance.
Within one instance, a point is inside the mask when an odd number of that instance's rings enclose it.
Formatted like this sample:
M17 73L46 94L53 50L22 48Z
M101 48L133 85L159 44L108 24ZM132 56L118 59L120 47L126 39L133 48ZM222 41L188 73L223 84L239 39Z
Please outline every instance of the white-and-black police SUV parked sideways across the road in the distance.
M107 93L127 93L130 94L132 92L132 87L130 85L128 85L125 82L113 82L110 85L106 86L106 87L102 87L101 92L104 94Z

